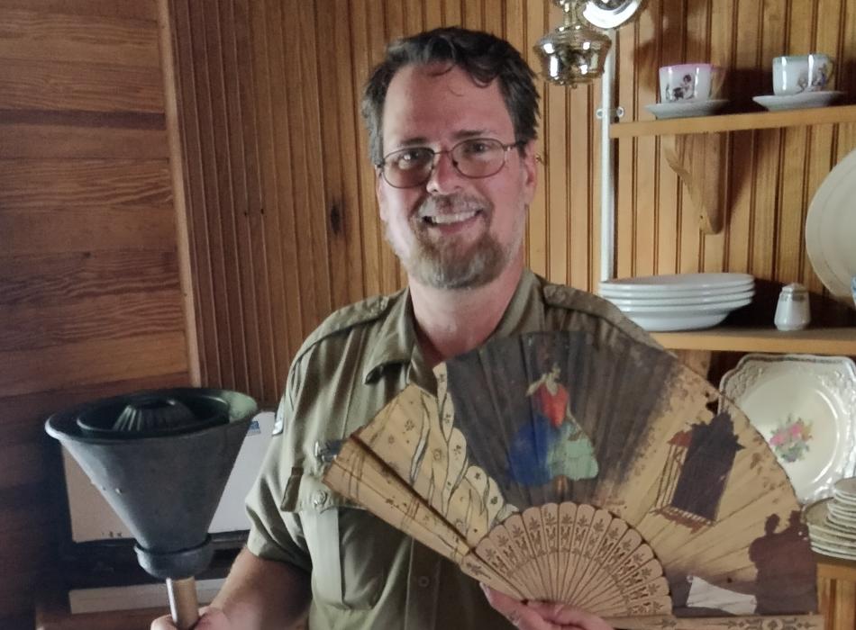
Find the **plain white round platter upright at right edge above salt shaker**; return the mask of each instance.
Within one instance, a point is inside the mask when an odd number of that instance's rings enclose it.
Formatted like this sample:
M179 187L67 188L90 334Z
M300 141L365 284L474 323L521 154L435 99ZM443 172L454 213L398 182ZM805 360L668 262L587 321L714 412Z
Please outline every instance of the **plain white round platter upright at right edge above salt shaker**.
M806 216L806 250L815 274L837 299L853 303L856 276L856 150L826 175Z

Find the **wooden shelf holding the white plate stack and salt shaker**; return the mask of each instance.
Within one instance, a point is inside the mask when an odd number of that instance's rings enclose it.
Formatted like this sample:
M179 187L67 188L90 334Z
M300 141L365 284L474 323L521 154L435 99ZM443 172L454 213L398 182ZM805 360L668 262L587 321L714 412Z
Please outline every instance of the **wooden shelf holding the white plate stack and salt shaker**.
M670 350L856 356L856 328L688 330L651 333Z

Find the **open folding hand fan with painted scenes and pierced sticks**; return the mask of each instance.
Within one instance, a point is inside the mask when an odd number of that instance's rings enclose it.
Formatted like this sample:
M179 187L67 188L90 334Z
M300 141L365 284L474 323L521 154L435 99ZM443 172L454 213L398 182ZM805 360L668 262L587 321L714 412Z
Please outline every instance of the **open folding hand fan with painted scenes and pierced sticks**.
M333 490L518 599L624 628L822 627L787 475L674 356L533 333L435 374L343 444Z

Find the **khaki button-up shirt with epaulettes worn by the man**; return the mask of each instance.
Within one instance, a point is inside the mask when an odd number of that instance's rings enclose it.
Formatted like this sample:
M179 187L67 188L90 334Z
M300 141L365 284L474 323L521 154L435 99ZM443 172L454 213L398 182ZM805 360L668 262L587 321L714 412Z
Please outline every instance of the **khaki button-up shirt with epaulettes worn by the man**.
M333 313L288 374L275 436L248 499L253 554L311 572L310 628L507 627L478 583L321 482L340 441L408 383L435 391L405 289ZM590 293L524 271L492 337L587 329L650 338Z

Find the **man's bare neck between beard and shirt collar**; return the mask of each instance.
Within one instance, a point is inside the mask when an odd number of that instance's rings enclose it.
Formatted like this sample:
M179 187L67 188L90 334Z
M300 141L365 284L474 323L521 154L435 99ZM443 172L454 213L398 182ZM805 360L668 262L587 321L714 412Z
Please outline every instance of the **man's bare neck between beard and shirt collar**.
M433 367L484 343L502 319L523 273L523 254L492 282L474 289L436 289L410 281L416 335Z

